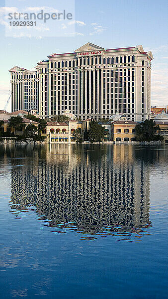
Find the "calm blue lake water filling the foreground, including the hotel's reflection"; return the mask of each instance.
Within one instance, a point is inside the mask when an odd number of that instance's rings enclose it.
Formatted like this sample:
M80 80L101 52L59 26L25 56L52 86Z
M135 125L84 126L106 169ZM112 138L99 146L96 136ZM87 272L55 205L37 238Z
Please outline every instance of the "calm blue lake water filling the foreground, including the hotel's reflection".
M168 298L168 146L0 146L0 299Z

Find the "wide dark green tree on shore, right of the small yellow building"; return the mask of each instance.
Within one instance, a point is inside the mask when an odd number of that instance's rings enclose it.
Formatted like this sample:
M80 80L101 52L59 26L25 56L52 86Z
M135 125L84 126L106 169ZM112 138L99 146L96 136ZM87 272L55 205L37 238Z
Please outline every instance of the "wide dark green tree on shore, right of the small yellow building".
M158 141L163 140L162 136L155 135L157 131L160 131L160 127L156 125L154 120L145 120L141 124L137 124L135 127L136 140L138 141Z

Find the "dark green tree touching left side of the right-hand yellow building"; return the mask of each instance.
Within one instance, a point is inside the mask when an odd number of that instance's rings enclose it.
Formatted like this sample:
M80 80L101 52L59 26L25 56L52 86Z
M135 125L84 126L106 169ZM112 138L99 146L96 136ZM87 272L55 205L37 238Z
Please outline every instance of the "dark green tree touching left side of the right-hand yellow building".
M88 137L90 142L102 142L102 139L105 136L105 127L98 125L98 122L94 120L92 120L89 125L90 128L88 132Z

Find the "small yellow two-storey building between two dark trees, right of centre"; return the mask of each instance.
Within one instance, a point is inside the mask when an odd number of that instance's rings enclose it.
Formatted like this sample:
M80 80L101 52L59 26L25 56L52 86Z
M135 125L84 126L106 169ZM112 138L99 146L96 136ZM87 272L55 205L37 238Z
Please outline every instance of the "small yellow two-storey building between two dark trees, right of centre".
M116 121L112 123L113 141L128 143L135 141L135 127L137 123L133 121Z

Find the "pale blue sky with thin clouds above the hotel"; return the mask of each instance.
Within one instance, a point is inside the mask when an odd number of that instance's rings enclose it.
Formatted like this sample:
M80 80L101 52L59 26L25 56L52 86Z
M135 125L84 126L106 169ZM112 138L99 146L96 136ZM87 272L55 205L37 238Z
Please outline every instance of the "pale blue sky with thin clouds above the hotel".
M62 0L61 2L63 2ZM75 1L75 0L74 0ZM53 28L38 30L31 36L6 37L3 7L57 7L57 0L1 0L0 7L0 109L8 98L10 84L8 70L18 65L33 69L36 63L51 53L71 52L91 42L104 48L136 46L152 50L152 105L168 104L168 1L166 0L76 0L71 32L66 34L60 21L60 35L44 36ZM73 3L73 1L72 1ZM46 8L47 9L47 8ZM70 7L68 8L70 9ZM45 24L48 28L48 24ZM42 28L45 29L45 28ZM48 35L49 35L48 34ZM57 35L57 34L56 34ZM17 34L16 36L19 36ZM8 106L7 110L9 111Z

